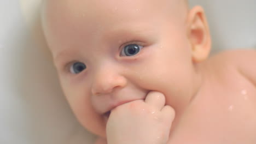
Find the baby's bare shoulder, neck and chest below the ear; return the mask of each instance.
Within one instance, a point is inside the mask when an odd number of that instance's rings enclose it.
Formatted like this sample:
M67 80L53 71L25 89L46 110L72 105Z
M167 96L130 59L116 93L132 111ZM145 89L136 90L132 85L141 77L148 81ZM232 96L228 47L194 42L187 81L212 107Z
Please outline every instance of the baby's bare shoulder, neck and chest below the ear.
M255 55L255 50L226 51L200 65L206 76L204 85L168 143L256 142L256 76L250 77L247 71L253 70L247 62L255 61ZM102 138L96 142L106 143Z

